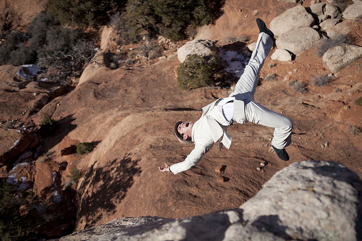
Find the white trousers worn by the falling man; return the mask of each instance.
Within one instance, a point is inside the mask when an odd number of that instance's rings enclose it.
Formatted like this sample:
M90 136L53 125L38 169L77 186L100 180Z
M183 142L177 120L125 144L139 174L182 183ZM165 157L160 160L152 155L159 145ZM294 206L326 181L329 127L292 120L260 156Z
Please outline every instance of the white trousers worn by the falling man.
M273 40L268 34L259 34L249 63L245 66L244 73L236 83L232 95L236 95L236 99L244 100L247 121L274 128L271 145L277 149L283 149L291 143L293 123L288 117L254 102L254 93L259 81L258 76L272 45Z

